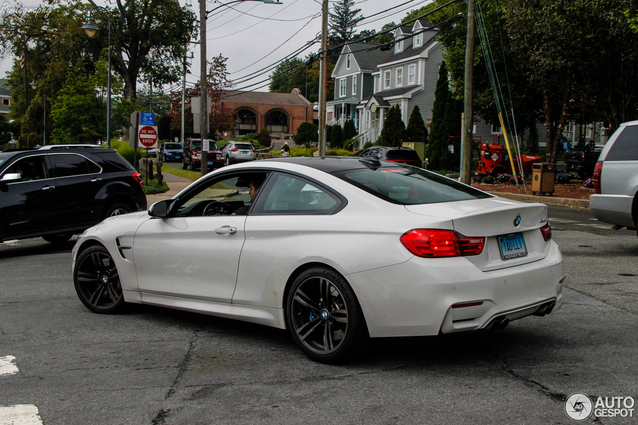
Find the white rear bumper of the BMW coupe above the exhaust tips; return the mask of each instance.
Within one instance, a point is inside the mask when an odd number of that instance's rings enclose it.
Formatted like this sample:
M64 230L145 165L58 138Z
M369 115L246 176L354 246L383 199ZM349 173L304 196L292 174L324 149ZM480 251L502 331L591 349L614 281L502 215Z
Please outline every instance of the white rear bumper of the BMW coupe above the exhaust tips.
M345 276L370 336L421 336L486 327L558 301L563 292L563 256L551 242L542 260L483 272L465 258L418 258ZM452 308L463 303L479 305Z

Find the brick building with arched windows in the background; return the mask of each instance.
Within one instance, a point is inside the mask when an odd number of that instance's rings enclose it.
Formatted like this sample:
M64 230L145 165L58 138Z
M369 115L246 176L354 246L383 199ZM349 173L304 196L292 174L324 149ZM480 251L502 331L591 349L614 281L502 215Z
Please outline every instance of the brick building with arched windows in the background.
M233 137L258 133L265 127L271 137L283 138L297 133L304 121L313 122L313 104L299 89L292 93L230 91L221 103L234 112Z

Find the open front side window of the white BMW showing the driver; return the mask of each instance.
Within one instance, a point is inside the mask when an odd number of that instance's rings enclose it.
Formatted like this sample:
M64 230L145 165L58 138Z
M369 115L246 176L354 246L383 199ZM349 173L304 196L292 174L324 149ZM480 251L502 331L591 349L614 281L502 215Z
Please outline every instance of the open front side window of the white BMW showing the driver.
M200 186L177 204L177 217L246 215L253 197L250 184L259 188L266 172L223 175Z

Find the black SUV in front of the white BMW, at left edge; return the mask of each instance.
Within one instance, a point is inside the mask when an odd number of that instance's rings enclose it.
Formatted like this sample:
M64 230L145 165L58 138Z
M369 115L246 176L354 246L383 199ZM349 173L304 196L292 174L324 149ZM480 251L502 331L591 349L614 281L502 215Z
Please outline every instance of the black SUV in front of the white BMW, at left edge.
M143 209L142 177L115 149L50 145L0 153L0 242L65 242L109 216Z

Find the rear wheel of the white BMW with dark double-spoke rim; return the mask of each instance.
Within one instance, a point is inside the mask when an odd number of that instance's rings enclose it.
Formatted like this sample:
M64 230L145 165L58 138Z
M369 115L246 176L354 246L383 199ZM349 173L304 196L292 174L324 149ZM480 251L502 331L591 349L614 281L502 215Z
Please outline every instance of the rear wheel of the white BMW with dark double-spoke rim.
M346 361L367 338L352 288L325 267L313 267L295 279L286 302L286 324L303 352L324 363Z

